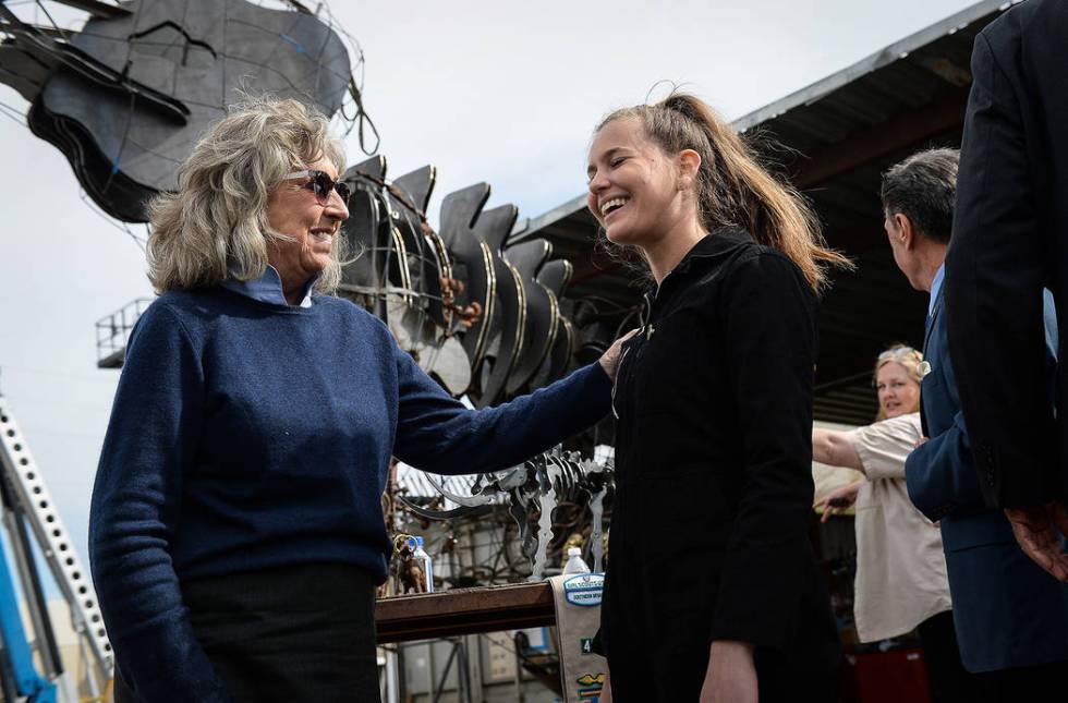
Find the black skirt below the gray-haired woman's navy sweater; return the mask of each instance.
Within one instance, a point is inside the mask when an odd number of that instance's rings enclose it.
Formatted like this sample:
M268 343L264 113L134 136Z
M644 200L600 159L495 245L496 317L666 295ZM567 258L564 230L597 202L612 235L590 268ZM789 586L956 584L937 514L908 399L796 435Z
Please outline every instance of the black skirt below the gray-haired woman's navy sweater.
M375 579L312 563L201 579L182 596L233 703L380 703ZM116 677L117 703L141 702Z

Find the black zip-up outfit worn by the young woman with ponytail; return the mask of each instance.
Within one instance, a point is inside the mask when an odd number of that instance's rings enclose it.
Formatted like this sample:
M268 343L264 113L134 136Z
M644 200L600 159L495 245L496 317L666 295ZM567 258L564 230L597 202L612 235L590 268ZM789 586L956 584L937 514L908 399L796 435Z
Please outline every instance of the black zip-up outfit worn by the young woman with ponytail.
M808 541L815 294L784 254L720 229L648 303L614 396L612 690L695 700L713 640L826 675L837 633Z

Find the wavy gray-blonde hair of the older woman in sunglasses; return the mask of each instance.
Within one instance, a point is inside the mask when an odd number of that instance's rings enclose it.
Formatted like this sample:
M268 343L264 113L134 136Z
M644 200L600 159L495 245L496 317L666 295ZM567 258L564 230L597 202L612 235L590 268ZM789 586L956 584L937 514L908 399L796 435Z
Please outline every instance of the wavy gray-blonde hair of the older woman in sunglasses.
M263 276L268 244L292 240L267 223L270 193L287 173L320 158L344 170L341 143L315 108L270 96L232 105L179 167L178 192L149 204L148 280L156 292ZM318 291L337 289L344 249L344 238L335 238Z

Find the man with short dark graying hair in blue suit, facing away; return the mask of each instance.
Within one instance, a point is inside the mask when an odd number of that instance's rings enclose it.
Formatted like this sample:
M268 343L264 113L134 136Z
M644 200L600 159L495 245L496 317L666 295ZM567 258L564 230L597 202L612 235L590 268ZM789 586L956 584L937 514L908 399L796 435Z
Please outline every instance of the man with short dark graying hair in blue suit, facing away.
M984 505L975 475L942 286L957 159L955 149L923 151L883 177L894 260L913 288L931 293L920 396L930 439L909 456L906 483L917 508L942 528L960 658L984 672L980 699L1018 701L1068 680L1068 585L1019 549L1006 517Z

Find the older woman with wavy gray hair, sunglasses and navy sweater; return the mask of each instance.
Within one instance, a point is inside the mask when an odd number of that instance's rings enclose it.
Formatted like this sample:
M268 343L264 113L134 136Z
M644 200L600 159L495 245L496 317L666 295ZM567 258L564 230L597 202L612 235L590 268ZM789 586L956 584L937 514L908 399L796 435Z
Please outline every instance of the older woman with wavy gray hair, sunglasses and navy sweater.
M474 411L329 295L342 168L325 117L255 99L153 205L160 295L130 338L89 525L119 701L378 700L390 457L491 471L608 411L618 344Z

